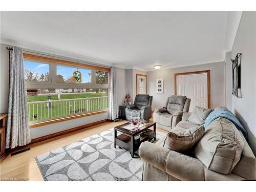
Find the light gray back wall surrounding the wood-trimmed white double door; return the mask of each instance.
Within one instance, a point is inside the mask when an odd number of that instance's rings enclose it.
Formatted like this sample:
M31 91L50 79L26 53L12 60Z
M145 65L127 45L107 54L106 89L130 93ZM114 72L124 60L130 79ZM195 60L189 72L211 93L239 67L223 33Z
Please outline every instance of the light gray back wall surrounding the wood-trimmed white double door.
M152 110L164 106L166 99L174 95L174 74L182 72L210 70L210 107L225 105L224 97L224 62L182 68L164 69L147 72L148 94L153 95ZM156 79L163 78L164 93L156 93ZM167 90L167 91L165 91Z

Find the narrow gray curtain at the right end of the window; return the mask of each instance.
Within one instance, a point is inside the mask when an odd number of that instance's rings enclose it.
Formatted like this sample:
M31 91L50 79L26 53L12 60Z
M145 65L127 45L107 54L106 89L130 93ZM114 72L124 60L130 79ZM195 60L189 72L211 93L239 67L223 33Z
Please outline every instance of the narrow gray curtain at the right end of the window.
M116 93L116 68L110 70L110 96L109 96L109 119L118 118L117 93Z

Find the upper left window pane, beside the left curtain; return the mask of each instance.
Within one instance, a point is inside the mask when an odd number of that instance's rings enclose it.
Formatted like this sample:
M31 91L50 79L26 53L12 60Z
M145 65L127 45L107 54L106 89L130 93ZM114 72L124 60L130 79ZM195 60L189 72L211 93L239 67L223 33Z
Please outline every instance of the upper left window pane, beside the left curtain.
M50 65L41 62L24 61L25 80L30 82L49 82Z

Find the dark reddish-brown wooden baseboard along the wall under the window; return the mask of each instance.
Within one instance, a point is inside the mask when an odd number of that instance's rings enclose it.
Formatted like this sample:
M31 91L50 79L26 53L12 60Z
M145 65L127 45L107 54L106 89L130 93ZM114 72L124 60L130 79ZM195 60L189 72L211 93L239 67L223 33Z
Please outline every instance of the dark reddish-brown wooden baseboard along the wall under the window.
M42 137L38 137L38 138L32 139L30 144L45 141L47 139L51 139L51 138L58 137L58 136L61 136L61 135L69 134L69 133L72 133L72 132L75 132L75 131L78 131L78 130L82 130L82 129L85 129L87 127L94 126L94 125L97 125L97 124L101 124L101 123L104 123L104 122L107 122L107 121L109 121L109 119L104 119L104 120L101 120L101 121L96 121L96 122L93 122L93 123L84 124L84 125L77 126L77 127L74 127L74 128L68 129L68 130L64 130L64 131L60 131L60 132L57 132L57 133L45 135L45 136L42 136Z

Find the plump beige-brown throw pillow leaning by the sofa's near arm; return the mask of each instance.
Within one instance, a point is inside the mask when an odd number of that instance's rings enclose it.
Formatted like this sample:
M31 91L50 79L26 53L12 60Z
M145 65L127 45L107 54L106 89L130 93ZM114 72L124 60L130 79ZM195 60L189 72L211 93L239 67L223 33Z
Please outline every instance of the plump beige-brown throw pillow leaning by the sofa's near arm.
M204 126L184 129L174 127L167 135L163 146L176 152L189 152L204 135Z

